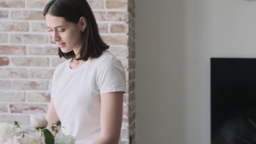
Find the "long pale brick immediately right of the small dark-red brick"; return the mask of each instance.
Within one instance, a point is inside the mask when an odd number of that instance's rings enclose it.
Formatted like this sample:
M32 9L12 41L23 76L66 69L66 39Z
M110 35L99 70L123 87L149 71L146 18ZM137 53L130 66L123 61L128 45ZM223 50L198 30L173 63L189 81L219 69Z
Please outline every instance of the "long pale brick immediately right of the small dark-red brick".
M15 66L31 66L31 67L48 67L48 58L29 58L29 57L15 57L12 58Z

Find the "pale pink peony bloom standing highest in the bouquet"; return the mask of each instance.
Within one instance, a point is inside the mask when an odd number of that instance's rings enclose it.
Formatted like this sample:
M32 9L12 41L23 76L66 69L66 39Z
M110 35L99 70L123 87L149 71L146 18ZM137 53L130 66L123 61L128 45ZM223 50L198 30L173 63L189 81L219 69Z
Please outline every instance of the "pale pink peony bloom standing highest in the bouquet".
M30 115L29 122L34 128L45 128L48 124L44 115Z

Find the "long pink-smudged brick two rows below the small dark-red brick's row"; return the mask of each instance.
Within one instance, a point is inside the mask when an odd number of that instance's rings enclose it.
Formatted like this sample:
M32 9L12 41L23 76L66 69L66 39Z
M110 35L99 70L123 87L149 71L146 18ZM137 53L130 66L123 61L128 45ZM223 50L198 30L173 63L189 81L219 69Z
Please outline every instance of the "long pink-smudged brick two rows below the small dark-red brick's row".
M15 90L48 90L48 81L12 81Z

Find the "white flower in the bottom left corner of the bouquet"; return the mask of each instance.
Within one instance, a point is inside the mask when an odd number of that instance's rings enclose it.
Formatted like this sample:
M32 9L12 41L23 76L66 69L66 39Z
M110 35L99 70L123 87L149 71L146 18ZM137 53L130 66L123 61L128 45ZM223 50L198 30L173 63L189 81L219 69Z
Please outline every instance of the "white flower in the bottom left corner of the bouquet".
M13 134L16 134L16 128L14 125L11 125L9 123L0 123L0 144L3 144L5 139Z

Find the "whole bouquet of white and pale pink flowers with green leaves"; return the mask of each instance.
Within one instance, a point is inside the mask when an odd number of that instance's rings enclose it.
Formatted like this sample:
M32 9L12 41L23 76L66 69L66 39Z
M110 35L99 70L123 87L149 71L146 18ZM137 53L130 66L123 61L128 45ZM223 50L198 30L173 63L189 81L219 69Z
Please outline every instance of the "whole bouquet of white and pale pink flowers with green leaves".
M53 135L46 128L48 122L43 115L30 115L29 120L32 129L21 128L16 121L13 124L0 123L0 144L75 144L73 136L58 131L60 121L52 124Z

